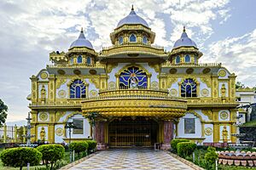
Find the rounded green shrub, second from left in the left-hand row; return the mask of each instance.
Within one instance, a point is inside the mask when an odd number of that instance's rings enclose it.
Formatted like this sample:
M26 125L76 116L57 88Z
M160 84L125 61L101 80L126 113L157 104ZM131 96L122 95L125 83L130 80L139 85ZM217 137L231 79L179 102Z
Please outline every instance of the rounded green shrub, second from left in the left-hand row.
M65 149L61 144L43 144L38 146L37 149L43 154L46 168L50 163L50 169L53 169L55 162L61 160L65 154Z

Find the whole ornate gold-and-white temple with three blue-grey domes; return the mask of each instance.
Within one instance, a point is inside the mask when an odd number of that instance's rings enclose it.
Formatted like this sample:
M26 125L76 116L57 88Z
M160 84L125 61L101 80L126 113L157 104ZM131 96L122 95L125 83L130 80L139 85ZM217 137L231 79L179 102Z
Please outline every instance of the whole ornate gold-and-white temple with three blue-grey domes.
M155 33L131 13L110 34L113 46L96 52L81 30L67 53L52 52L52 65L32 76L34 141L95 138L108 147L170 147L235 142L236 76L203 55L185 28L171 51L154 46Z

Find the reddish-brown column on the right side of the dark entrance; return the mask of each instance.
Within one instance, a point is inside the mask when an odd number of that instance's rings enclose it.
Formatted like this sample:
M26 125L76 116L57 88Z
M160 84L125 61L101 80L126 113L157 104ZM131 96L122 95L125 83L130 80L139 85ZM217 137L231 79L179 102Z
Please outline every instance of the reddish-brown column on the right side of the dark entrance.
M161 150L169 150L171 148L171 140L173 139L173 122L164 121L164 143Z

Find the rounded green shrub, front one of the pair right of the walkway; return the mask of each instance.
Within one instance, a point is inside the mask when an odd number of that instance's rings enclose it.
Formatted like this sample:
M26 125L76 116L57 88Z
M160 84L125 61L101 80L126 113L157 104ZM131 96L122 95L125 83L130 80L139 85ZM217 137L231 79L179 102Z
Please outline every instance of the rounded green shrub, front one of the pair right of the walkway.
M177 144L177 155L181 157L190 156L196 148L193 142L181 142Z

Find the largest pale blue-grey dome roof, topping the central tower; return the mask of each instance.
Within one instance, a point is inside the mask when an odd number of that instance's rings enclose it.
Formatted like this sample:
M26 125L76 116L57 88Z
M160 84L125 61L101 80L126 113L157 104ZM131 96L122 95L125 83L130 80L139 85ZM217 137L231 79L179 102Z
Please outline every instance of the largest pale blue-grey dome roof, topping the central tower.
M135 13L135 11L133 9L133 6L131 8L131 13L128 14L124 19L120 20L117 27L123 26L125 24L130 24L130 25L141 24L143 26L147 26L148 27L148 23L146 22L146 20L143 20L142 17L140 17L139 15L137 15Z

